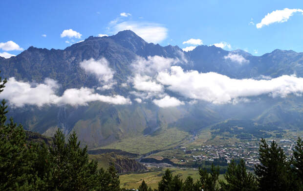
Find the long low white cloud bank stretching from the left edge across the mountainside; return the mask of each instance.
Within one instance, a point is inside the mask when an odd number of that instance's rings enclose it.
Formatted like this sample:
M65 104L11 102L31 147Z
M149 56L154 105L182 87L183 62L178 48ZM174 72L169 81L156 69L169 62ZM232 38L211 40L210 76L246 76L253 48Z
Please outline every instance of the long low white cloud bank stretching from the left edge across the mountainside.
M14 107L24 105L87 105L91 101L102 101L111 104L130 104L129 98L121 95L99 95L93 89L67 89L62 96L56 95L59 85L55 80L45 79L42 84L30 84L28 82L17 81L14 77L8 79L5 90L0 94L0 98L7 99Z

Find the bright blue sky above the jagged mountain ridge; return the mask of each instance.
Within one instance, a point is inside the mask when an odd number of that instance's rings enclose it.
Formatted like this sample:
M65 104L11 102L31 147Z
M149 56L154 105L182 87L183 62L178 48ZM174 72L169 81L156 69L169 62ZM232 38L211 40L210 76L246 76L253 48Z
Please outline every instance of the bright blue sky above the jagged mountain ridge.
M276 48L303 52L302 0L12 0L0 1L0 7L0 53L17 55L30 46L64 49L123 29L162 46L216 44L254 55ZM183 44L190 39L201 41Z

